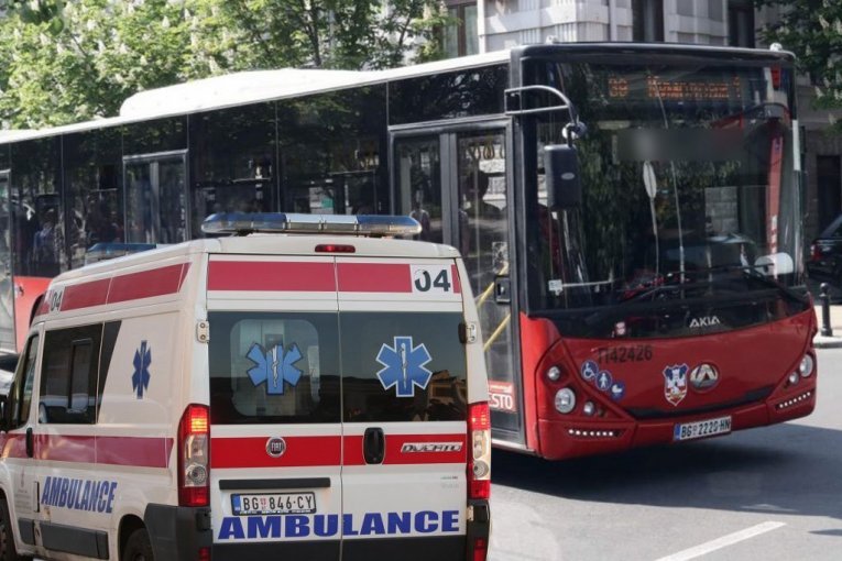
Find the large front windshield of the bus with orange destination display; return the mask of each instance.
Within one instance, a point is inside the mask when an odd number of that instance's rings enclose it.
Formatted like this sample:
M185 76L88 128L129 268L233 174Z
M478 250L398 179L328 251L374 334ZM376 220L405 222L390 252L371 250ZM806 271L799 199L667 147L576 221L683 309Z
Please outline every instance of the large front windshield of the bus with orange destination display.
M588 314L759 290L797 299L801 222L792 75L769 66L544 62L571 99L581 205L548 211L543 146L566 113L536 118L532 309ZM528 195L527 195L528 197ZM641 306L636 306L641 308ZM595 316L594 316L595 314ZM611 314L609 314L610 316Z

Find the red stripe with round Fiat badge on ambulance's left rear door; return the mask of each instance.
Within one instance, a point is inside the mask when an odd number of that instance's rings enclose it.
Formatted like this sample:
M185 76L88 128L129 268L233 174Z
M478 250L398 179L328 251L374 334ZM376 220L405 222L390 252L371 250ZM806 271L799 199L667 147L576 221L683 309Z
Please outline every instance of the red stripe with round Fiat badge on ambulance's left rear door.
M210 468L302 468L339 465L338 436L284 437L286 451L280 458L266 453L266 437L211 438Z

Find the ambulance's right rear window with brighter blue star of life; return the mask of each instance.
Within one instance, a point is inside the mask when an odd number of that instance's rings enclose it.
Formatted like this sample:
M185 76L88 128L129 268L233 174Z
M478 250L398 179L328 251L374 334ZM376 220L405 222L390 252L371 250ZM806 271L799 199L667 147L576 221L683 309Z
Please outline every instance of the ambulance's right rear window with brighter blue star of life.
M464 420L461 314L339 315L343 420Z

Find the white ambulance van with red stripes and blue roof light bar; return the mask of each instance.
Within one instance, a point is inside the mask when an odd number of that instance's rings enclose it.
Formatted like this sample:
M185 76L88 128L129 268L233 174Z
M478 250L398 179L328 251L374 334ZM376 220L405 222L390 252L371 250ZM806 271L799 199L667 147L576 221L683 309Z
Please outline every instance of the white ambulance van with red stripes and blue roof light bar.
M2 400L0 559L485 559L457 251L389 239L406 217L204 228L50 285Z

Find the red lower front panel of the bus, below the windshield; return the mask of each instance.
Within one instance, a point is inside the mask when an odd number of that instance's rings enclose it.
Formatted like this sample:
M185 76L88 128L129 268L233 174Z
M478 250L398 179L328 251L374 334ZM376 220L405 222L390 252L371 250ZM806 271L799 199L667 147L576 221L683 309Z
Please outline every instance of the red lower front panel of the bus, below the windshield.
M522 316L523 340L533 343L524 344L523 371L535 388L536 422L527 446L557 460L674 442L676 425L713 417L730 416L731 430L740 430L809 415L816 407L816 372L798 375L795 384L788 378L805 354L813 355L816 329L816 315L808 310L778 323L692 339L565 340L547 321ZM622 399L583 376L588 361L624 384ZM688 366L686 394L674 405L666 398L664 370L682 364ZM689 372L700 364L715 366L714 386L693 387ZM544 376L553 365L561 369L557 382ZM554 407L562 387L580 396L569 415ZM589 402L595 406L591 416L582 413Z

